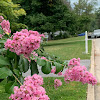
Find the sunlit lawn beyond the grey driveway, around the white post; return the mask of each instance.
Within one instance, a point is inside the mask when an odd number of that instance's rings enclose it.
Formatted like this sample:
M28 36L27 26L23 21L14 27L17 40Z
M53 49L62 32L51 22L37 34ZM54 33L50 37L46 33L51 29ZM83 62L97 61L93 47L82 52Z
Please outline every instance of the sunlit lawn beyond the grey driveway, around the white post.
M61 60L72 58L90 59L91 40L88 41L89 54L85 52L85 37L73 37L68 39L48 41L44 49L50 55L60 57Z

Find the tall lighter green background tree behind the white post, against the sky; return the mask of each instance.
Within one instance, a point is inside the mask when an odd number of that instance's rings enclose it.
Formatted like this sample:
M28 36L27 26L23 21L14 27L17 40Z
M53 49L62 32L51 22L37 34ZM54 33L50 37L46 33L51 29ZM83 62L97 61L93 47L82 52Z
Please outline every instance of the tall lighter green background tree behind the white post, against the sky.
M96 5L96 0L79 0L74 3L74 12L77 16L77 30L78 33L87 31L92 31L94 16L94 7ZM92 25L92 26L91 26Z

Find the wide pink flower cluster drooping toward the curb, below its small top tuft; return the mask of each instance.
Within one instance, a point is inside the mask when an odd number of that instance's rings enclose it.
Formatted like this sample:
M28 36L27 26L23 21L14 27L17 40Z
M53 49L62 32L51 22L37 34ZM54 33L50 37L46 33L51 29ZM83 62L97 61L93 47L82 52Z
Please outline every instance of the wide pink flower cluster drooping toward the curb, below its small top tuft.
M83 84L88 83L95 85L97 83L96 78L86 70L85 66L74 66L66 70L64 74L64 81L69 83L70 81L80 81Z

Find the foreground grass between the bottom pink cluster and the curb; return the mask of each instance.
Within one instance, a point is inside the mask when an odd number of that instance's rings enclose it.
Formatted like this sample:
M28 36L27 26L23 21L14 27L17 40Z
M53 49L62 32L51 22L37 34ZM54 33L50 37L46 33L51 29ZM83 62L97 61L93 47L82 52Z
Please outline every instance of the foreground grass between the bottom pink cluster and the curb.
M86 100L87 84L82 85L80 82L71 82L66 84L64 78L60 77L63 85L54 88L54 77L44 78L44 87L50 100Z

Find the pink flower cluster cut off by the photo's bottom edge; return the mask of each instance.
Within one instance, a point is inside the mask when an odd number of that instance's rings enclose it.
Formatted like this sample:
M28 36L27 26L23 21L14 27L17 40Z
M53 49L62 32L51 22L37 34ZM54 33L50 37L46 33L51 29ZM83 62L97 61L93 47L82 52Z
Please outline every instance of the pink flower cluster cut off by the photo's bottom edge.
M23 85L14 87L14 94L11 94L11 100L49 100L45 89L40 86L43 84L43 78L37 74L25 78Z

